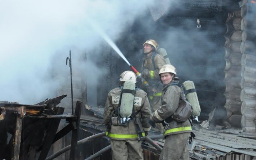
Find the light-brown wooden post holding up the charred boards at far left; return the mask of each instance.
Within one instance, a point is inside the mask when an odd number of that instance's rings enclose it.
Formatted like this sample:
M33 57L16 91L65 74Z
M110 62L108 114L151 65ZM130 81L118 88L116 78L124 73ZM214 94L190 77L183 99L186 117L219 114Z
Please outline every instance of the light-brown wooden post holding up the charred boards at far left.
M19 110L23 111L24 107L20 107ZM16 115L16 127L13 139L13 155L12 160L19 160L19 151L21 148L21 132L22 132L22 113L17 113Z

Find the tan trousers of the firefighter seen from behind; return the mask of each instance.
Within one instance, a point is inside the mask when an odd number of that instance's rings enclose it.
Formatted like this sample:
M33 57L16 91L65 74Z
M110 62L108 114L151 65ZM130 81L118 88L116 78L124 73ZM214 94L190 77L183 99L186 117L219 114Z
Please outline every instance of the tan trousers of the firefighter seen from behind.
M141 141L110 139L112 160L143 160Z

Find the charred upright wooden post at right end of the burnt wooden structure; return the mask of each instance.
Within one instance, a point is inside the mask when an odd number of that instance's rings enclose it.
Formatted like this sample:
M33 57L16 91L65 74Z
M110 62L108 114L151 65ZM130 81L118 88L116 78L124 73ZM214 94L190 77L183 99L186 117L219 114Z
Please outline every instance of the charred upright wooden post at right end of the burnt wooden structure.
M80 124L80 116L81 116L81 102L76 101L76 108L75 108L75 116L76 119L76 129L72 130L72 139L71 139L71 149L70 149L70 160L75 160L75 149L78 141L78 131L79 131L79 124Z

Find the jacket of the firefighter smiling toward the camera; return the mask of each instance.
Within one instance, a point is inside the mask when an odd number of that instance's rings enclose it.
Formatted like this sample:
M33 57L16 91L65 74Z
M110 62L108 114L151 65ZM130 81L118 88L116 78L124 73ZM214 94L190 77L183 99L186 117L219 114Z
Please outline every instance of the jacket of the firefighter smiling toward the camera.
M168 117L172 116L173 113L178 108L181 97L182 90L179 86L169 86L168 84L164 85L162 90L161 107L158 110L155 110L155 112L152 114L153 120L155 122L161 122L167 119ZM186 120L185 122L177 122L171 119L164 129L164 137L170 134L178 134L185 132L192 132L189 120Z

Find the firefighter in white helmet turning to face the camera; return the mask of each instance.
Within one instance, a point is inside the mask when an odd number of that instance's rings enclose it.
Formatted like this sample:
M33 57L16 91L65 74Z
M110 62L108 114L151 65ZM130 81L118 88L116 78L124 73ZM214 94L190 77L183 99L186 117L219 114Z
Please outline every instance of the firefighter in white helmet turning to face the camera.
M164 128L165 143L160 154L160 160L188 160L189 150L187 141L192 132L189 119L178 122L170 118L179 106L183 91L174 81L176 68L172 65L164 65L159 71L163 83L161 107L150 116L150 121L167 124Z

